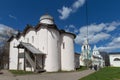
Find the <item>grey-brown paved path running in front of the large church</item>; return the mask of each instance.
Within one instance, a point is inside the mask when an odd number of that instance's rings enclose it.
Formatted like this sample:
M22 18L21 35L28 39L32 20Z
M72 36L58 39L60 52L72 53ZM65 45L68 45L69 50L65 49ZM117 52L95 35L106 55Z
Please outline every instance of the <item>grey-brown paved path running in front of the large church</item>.
M43 73L24 76L0 75L0 80L78 80L85 77L94 70L84 70L81 72L61 72L61 73ZM7 73L9 74L9 73Z

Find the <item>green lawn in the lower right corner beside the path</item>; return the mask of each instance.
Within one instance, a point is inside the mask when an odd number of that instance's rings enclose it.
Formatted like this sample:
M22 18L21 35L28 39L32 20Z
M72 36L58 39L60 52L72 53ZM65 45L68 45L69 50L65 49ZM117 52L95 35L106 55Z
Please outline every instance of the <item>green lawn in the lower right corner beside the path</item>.
M120 80L120 67L105 67L80 80Z

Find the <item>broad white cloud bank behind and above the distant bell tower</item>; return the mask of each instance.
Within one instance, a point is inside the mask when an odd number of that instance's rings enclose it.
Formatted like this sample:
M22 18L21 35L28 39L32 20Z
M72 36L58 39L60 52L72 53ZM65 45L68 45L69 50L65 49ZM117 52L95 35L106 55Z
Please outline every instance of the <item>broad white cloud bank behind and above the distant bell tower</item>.
M90 44L98 43L99 41L107 40L111 38L111 31L114 31L120 26L120 22L112 23L100 23L88 25L88 39ZM87 26L83 26L79 29L75 42L82 44L85 36L87 36Z

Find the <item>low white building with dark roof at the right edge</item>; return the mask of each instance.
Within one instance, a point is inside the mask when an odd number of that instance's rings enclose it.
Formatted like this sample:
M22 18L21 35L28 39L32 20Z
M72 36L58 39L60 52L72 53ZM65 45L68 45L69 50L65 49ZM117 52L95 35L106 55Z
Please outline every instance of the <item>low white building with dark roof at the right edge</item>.
M109 54L110 66L120 67L120 53Z

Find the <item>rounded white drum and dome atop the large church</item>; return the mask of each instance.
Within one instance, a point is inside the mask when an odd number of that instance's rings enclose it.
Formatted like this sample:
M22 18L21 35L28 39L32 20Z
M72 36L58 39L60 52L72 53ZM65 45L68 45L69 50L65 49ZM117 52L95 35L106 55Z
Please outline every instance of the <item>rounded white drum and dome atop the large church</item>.
M45 15L43 15L43 16L40 17L40 23L54 24L54 19L49 14L45 14Z

